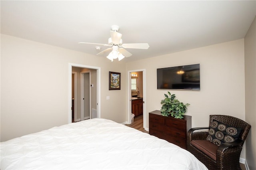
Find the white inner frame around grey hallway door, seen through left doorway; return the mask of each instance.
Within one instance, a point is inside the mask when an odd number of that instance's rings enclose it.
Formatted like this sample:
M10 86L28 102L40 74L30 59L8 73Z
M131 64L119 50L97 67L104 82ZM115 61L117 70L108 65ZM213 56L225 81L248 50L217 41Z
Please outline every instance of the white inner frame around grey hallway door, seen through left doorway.
M80 72L80 95L81 95L81 121L84 120L84 74L89 73L89 84L91 84L91 71L90 70L86 70L86 71L82 71ZM90 119L91 117L91 88L90 88L90 92L89 92L89 98L90 98ZM83 103L83 104L82 104Z

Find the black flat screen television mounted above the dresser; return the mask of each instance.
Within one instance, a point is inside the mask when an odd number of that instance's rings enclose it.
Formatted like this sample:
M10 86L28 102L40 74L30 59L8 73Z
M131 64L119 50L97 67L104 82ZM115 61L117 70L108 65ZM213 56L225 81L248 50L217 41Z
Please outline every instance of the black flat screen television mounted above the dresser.
M157 69L157 89L200 90L200 64Z

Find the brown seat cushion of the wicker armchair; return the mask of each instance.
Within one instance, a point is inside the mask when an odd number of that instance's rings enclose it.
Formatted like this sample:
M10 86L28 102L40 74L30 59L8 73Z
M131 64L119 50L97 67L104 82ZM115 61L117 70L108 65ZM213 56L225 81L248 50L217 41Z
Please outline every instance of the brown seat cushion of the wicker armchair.
M208 140L192 140L191 144L216 161L217 145Z

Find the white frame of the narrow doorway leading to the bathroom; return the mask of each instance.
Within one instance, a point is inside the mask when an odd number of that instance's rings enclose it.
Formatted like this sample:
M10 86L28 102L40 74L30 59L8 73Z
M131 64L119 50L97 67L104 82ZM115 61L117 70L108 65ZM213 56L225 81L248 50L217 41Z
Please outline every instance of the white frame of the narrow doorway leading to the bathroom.
M128 82L128 124L132 123L131 115L132 115L132 88L131 88L131 73L132 72L138 72L142 71L142 77L143 77L143 128L148 131L148 128L146 128L146 69L138 69L138 70L130 70L127 73L127 82Z

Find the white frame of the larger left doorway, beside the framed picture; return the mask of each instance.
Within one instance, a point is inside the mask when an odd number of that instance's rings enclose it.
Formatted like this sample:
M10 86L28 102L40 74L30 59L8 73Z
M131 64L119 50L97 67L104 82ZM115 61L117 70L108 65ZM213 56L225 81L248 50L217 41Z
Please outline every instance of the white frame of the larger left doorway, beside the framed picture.
M96 69L97 71L97 92L96 92L96 103L97 103L97 113L98 118L100 118L100 67L90 66L90 65L82 65L76 63L68 63L68 123L72 123L72 67L80 67L80 68L87 68L87 69Z

